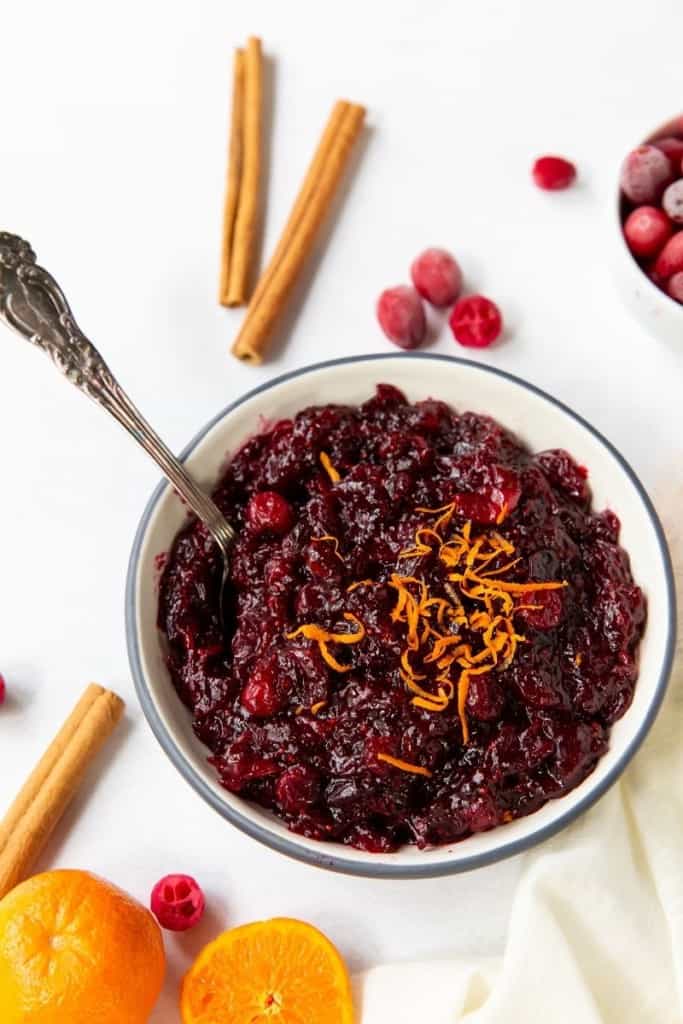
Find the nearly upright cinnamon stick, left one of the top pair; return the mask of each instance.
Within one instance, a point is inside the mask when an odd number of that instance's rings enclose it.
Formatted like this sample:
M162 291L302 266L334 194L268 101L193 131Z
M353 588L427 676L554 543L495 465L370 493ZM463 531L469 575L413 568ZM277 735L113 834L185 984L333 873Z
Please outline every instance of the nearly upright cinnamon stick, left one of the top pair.
M239 59L238 61L239 62ZM254 265L259 230L261 193L261 136L263 109L263 57L261 40L252 36L244 54L242 143L239 196L229 253L229 274L225 305L244 305ZM236 156L236 162L238 157Z

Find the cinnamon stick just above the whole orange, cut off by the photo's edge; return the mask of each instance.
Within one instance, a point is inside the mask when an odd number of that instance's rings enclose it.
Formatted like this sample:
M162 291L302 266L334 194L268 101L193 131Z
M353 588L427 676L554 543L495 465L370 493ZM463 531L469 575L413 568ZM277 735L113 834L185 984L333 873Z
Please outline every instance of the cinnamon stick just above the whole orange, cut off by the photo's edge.
M34 768L0 822L0 899L31 871L123 710L92 684Z

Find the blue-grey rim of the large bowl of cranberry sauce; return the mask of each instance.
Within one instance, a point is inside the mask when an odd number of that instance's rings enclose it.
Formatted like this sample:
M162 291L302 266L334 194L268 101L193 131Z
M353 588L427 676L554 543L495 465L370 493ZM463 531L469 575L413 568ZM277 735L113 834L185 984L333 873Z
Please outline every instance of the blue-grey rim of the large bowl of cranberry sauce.
M538 828L535 833L529 836L525 836L521 839L510 840L508 842L502 842L500 846L497 846L493 850L487 850L484 853L467 854L466 845L467 840L464 841L462 845L462 853L460 850L455 855L455 862L451 863L449 861L442 861L439 863L425 863L421 864L419 861L411 864L387 864L383 863L373 863L372 854L369 854L368 860L355 861L348 860L343 856L339 856L336 853L329 853L326 849L331 844L319 843L319 849L308 849L304 846L299 846L297 842L287 837L279 836L265 826L258 824L255 821L250 820L248 817L243 815L239 810L233 807L228 806L223 803L223 801L213 792L213 790L206 783L202 776L195 770L193 765L185 760L183 755L178 750L176 743L174 742L172 736L167 731L164 723L162 722L157 709L155 707L154 700L150 693L146 680L144 678L144 673L142 672L142 665L140 660L140 652L137 643L137 605L135 599L135 584L137 579L137 565L140 557L140 551L142 548L142 543L147 529L147 525L155 511L155 508L160 501L162 495L165 493L166 488L170 486L165 480L163 480L155 489L152 498L147 502L147 505L142 514L142 518L137 527L135 534L135 540L133 542L133 549L130 555L130 561L128 564L128 577L126 580L126 638L128 643L128 657L130 660L130 667L133 675L133 681L135 683L135 689L137 691L137 696L142 707L144 716L154 732L157 740L161 744L163 751L167 757L172 761L175 767L178 769L180 774L183 776L185 781L187 781L203 799L218 812L223 818L230 822L230 824L236 825L241 831L246 833L252 839L257 840L263 845L270 847L270 849L275 850L279 853L284 853L289 857L293 857L295 860L304 861L308 864L313 864L316 867L324 867L329 870L339 871L345 874L354 874L365 878L376 878L376 879L430 879L438 878L446 874L457 874L462 871L472 870L476 867L483 867L486 864L492 864L499 860L503 860L507 857L512 857L515 854L522 853L525 850L530 849L543 841L550 839L552 836L556 835L562 828L566 827L571 821L578 818L581 814L592 807L600 797L620 777L628 763L631 761L633 756L638 751L639 746L643 742L645 736L649 732L649 729L656 717L656 714L664 700L665 692L667 690L667 685L669 683L669 676L671 674L671 668L674 658L674 649L676 643L676 589L674 584L674 571L671 562L671 555L669 552L669 547L665 537L664 528L659 521L659 517L654 510L654 506L650 501L650 498L645 490L643 484L640 482L635 472L626 461L626 459L621 455L620 452L614 447L614 445L607 440L595 427L591 426L583 417L575 413L564 402L559 401L552 395L543 391L541 388L536 387L533 384L529 384L527 381L522 380L519 377L515 377L513 374L509 374L504 370L498 370L494 367L484 366L480 362L475 362L471 359L462 359L457 356L449 355L438 355L434 353L420 352L420 353L377 353L370 355L350 355L344 356L338 359L329 359L324 362L315 362L307 367L303 367L301 370L293 370L290 373L282 374L279 377L273 378L270 381L266 381L264 384L260 384L258 387L253 388L248 391L242 397L236 399L236 401L230 402L225 409L222 410L217 416L215 416L187 444L187 446L182 451L180 455L181 460L187 459L187 457L195 451L197 445L204 439L206 434L222 420L228 413L239 406L242 406L249 398L254 397L254 395L260 394L263 391L267 391L279 384L283 384L285 381L294 380L296 377L301 377L304 374L314 373L318 370L326 370L330 367L345 366L350 362L382 362L384 359L430 359L433 361L440 362L456 362L460 366L471 367L481 373L493 374L497 377L502 377L513 384L517 384L520 387L525 388L527 391L531 391L533 394L545 398L551 404L560 409L567 416L575 420L581 426L585 427L597 440L599 440L607 451L613 456L613 458L618 462L622 469L626 472L627 476L636 488L640 500L642 501L647 514L652 523L654 529L657 544L659 547L659 553L661 555L661 561L664 564L665 575L667 581L667 603L668 603L668 622L667 622L667 644L665 650L664 662L659 672L659 678L656 683L656 688L652 700L647 709L647 714L644 716L643 721L640 724L640 728L636 735L633 737L627 749L622 754L617 762L612 766L605 777L600 781L598 785L591 788L586 796L581 800L574 807L569 808L563 814L560 814L554 821ZM169 682L169 685L170 682ZM627 713L628 714L628 713Z

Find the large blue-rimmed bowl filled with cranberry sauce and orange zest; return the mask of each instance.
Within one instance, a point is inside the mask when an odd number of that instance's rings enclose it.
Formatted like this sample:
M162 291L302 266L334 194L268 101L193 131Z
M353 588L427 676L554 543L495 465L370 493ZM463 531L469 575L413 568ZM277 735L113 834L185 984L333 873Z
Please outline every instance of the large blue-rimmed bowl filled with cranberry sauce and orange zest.
M531 385L368 356L229 407L184 458L239 529L155 493L128 577L136 688L181 774L301 860L465 870L588 808L667 685L674 588L642 485Z

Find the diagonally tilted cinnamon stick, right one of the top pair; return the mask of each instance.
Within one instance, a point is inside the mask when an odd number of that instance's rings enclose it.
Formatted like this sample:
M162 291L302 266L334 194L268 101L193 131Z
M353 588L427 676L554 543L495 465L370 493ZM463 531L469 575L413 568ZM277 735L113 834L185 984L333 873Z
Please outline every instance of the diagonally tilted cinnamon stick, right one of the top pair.
M232 353L259 364L341 182L366 111L336 104L275 252L259 282Z

